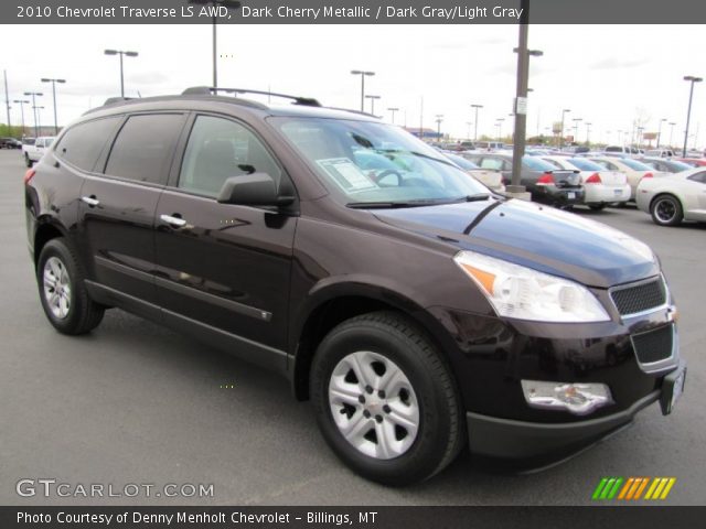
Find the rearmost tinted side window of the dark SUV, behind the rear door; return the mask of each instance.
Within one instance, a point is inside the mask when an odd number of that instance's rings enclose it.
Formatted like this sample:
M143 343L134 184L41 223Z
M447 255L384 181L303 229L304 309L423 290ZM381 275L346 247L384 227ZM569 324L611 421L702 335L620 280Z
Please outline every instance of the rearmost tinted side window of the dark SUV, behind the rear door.
M62 137L56 148L57 155L83 171L93 171L103 148L121 119L116 116L75 125Z

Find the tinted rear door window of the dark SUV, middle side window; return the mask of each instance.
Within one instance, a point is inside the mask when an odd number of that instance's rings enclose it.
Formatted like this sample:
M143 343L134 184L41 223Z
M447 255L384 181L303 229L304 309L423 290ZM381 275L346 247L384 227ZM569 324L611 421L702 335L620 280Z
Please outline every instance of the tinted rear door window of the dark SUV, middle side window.
M183 116L153 114L131 116L113 144L106 174L163 184Z

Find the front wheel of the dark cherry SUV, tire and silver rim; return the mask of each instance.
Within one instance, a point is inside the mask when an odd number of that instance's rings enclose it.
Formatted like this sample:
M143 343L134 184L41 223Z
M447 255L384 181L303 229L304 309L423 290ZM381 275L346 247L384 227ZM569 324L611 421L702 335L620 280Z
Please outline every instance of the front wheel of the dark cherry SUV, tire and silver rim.
M386 384L393 374L396 381ZM427 479L463 446L451 371L424 333L397 313L364 314L334 327L317 349L310 381L324 439L368 479L394 486ZM347 428L351 441L343 434Z

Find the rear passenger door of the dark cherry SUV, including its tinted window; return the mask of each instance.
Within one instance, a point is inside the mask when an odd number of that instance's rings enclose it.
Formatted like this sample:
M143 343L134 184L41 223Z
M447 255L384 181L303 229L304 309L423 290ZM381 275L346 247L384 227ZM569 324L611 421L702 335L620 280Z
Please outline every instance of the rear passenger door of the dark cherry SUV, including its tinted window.
M78 229L90 277L124 301L156 302L154 210L184 122L180 112L127 117L81 190Z

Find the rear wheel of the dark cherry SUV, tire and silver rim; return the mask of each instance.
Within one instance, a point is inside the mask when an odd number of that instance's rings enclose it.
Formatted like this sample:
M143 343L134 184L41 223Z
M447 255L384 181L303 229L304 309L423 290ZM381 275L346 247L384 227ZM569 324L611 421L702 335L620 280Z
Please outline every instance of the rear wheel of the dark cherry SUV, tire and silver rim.
M85 334L103 320L105 307L88 296L85 277L66 239L52 239L42 248L36 267L40 300L47 320L62 334Z

